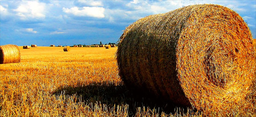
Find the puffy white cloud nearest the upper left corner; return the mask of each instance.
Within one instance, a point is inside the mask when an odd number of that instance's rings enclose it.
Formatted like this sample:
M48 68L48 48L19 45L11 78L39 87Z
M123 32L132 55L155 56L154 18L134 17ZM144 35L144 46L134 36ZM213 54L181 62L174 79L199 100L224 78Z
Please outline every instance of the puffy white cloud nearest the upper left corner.
M38 1L23 1L16 9L13 9L13 11L17 12L16 15L19 16L21 20L44 18L44 10L45 3Z

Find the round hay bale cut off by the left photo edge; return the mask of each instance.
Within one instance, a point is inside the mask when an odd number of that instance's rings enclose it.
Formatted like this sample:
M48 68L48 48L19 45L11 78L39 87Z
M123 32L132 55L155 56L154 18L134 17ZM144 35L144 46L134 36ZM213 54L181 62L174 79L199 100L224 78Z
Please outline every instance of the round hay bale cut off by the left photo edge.
M19 63L20 50L17 45L0 46L0 64Z

